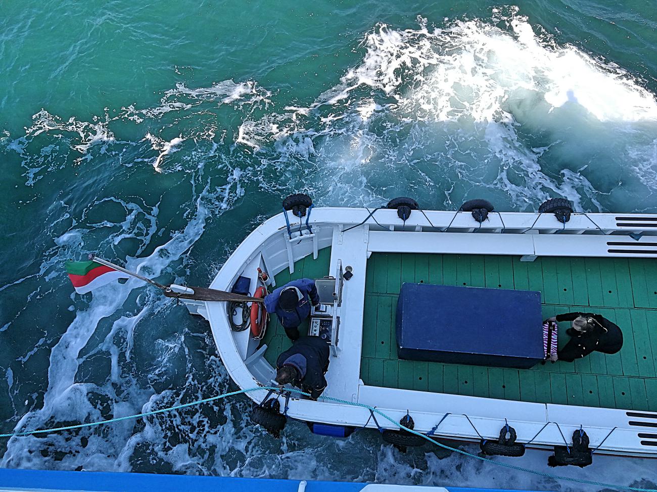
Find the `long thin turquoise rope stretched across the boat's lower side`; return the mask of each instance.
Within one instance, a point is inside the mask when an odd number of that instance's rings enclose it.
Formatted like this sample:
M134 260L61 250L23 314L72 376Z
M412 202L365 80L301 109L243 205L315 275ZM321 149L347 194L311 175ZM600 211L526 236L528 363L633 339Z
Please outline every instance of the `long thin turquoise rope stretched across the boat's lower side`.
M107 420L99 420L98 422L87 422L86 424L76 424L73 426L64 426L64 427L56 427L56 428L51 428L51 429L39 429L39 430L30 430L30 431L24 431L24 432L12 432L10 434L0 434L0 437L18 437L18 436L30 436L32 434L45 434L49 432L58 432L62 430L72 430L72 429L79 429L79 428L84 428L84 427L92 427L92 426L99 426L101 424L111 424L112 422L121 422L122 420L130 420L133 418L140 418L140 417L146 417L150 415L155 415L158 413L165 413L173 410L179 410L179 409L184 409L187 407L193 407L194 405L201 405L202 403L209 403L210 401L217 401L220 399L224 399L227 397L235 396L235 395L240 395L242 393L251 393L252 391L261 391L261 390L269 390L269 391L279 391L279 388L276 386L257 386L256 388L248 388L247 390L238 390L238 391L230 391L229 393L222 393L221 395L213 396L210 398L204 398L201 400L197 401L191 401L189 403L183 403L181 405L174 405L173 407L167 407L165 409L159 409L159 410L153 410L150 412L145 412L145 413L139 413L139 414L134 414L134 415L127 415L123 417L117 417L117 418L109 418ZM295 388L286 388L284 392L288 393L298 393L299 395L304 395L304 396L309 396L308 393L304 393L304 391L296 390ZM282 393L278 393L278 396L281 396ZM573 481L576 483L586 483L587 485L597 485L599 487L607 487L610 489L616 489L616 490L629 490L629 491L634 491L634 492L657 492L657 489L641 489L639 487L625 487L624 485L615 485L613 483L604 483L601 481L593 481L593 480L584 480L581 478L571 478L571 477L565 477L565 476L560 476L560 475L553 475L545 472L539 472L538 470L531 470L530 468L524 468L523 466L516 466L514 464L509 464L501 461L494 461L491 460L490 458L486 457L481 457L479 455L474 455L472 453L468 453L468 451L463 451L463 449L458 449L455 447L447 446L443 443L440 443L436 441L435 439L432 439L429 436L425 436L424 434L420 434L419 432L410 429L408 427L405 427L396 420L394 420L392 417L386 415L382 411L376 409L376 407L370 407L369 405L365 405L364 403L356 403L353 401L346 401L346 400L341 400L338 398L332 398L329 396L323 396L321 399L325 401L334 401L336 403L342 403L342 405L351 405L353 407L361 407L363 409L367 409L370 411L371 416L373 416L374 413L379 414L386 420L389 420L397 426L400 429L405 430L406 432L410 432L411 434L415 434L416 436L420 436L427 441L434 443L438 447L442 447L443 449L447 449L449 451L453 451L455 453L459 453L461 455L470 457L470 458L475 458L478 460L486 461L492 464L495 464L497 466L503 466L505 468L511 468L512 470L518 470L520 472L526 472L534 475L539 475L547 478L554 478L556 480L566 480L566 481Z

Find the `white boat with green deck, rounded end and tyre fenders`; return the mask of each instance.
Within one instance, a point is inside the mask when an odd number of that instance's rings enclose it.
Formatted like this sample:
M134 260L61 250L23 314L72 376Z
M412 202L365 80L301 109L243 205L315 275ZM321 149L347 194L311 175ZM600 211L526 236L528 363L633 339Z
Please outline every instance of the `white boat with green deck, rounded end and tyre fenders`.
M404 220L396 204L374 213L281 212L244 239L210 288L231 290L242 276L253 293L258 268L269 274L270 291L290 279L329 277L335 296L323 397L376 407L394 420L410 414L415 431L439 439L496 442L508 423L526 447L570 451L571 436L583 430L589 451L657 457L657 215L572 213L560 221L552 212L562 202L543 213L491 212L482 222L469 211L412 210ZM539 291L544 317L602 313L622 327L625 344L614 355L532 369L399 360L394 307L404 282ZM237 386L271 386L273 363L290 344L275 319L258 340L231 329L227 303L184 302L210 323ZM277 397L248 396L258 404ZM345 435L364 425L398 429L334 400L292 393L287 407L288 416L341 426Z

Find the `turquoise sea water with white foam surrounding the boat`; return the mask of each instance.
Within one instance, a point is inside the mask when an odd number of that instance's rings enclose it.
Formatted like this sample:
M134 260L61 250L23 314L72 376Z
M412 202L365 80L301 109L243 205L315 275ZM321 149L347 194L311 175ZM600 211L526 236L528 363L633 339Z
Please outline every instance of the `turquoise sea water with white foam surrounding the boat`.
M208 284L299 191L656 213L656 49L657 8L640 0L4 2L0 431L231 388L202 320L132 281L75 295L68 258ZM249 407L3 440L0 466L583 489L401 455L376 432L291 423L278 441ZM559 471L654 486L655 469Z

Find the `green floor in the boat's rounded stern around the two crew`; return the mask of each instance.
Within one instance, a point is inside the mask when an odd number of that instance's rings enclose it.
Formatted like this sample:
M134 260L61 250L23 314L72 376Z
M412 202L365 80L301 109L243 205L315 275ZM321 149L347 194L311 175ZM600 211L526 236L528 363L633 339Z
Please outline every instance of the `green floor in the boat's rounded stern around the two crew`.
M325 275L328 275L328 265L330 263L330 246L319 250L317 254L317 259L313 259L313 256L306 256L304 259L300 259L294 263L294 273L290 275L288 269L284 269L279 272L278 275L275 275L274 279L276 280L276 286L281 287L290 280L303 279L307 277L309 279L320 279ZM302 335L308 333L308 322L305 321L301 326L299 326L299 331ZM292 342L287 338L283 325L279 323L276 315L273 315L269 318L269 324L267 324L267 332L262 339L263 344L267 344L267 350L265 351L265 359L274 366L276 364L276 359L279 357L279 354L287 350L292 346Z

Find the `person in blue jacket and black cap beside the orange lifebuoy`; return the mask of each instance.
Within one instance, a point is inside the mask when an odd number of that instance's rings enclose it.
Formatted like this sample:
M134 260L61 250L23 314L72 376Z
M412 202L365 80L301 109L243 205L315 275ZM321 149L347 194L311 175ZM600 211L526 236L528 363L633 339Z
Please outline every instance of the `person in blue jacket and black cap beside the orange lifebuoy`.
M265 296L267 313L276 313L292 342L299 338L298 327L310 315L311 303L319 304L315 280L311 279L292 280Z

